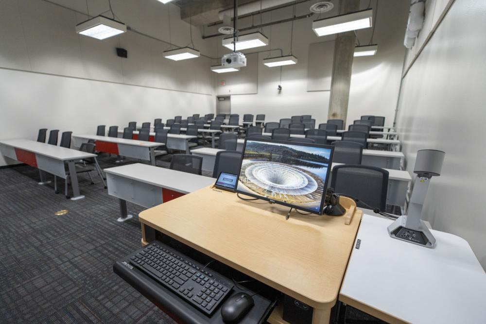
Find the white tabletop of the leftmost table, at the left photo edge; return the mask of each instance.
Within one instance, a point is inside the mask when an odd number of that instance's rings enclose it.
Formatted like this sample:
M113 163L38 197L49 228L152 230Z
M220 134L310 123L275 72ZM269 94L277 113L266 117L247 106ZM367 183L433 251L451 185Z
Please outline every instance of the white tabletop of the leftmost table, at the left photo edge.
M4 139L0 141L0 144L22 149L35 154L52 157L61 161L80 160L96 156L96 154L67 149L65 147L46 143L40 143L30 139Z

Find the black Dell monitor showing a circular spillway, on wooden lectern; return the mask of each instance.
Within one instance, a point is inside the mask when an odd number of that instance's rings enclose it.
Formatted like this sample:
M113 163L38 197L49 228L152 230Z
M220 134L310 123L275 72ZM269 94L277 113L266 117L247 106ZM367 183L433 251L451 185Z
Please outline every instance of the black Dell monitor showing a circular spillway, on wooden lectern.
M334 147L245 140L236 192L322 214Z

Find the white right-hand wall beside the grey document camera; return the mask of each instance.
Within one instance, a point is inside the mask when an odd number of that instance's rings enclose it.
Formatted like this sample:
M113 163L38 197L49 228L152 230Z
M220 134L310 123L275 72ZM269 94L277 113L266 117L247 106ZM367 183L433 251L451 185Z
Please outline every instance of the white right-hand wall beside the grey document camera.
M408 171L417 150L446 152L441 176L431 181L425 219L466 239L486 268L485 17L484 0L452 3L404 77L398 126Z

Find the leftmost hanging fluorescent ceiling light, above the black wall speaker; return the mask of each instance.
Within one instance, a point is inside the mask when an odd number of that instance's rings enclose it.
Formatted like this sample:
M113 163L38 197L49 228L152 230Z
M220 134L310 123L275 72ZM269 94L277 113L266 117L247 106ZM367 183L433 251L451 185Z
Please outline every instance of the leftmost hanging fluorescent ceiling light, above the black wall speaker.
M103 16L76 25L76 33L96 39L105 39L126 32L126 25Z

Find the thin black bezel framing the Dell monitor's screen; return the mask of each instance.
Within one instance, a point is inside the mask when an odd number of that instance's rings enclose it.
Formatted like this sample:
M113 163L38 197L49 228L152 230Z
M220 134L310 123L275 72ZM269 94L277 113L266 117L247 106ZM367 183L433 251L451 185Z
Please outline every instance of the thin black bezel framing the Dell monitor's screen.
M242 150L242 159L240 161L240 168L239 168L239 171L238 171L238 179L236 180L236 188L235 188L235 192L236 193L239 193L239 194L242 194L242 195L245 195L245 196L250 196L250 197L258 198L258 199L261 199L261 200L265 200L265 201L268 201L268 202L273 203L273 204L278 204L278 205L283 205L283 206L287 206L287 207L292 207L292 208L295 208L295 209L298 209L298 210L310 212L312 214L322 215L323 209L324 209L324 202L326 200L326 190L328 188L328 181L329 181L330 171L332 169L332 158L334 156L334 146L332 146L332 145L324 145L324 144L315 144L315 143L302 143L302 142L282 141L282 140L276 140L276 139L251 139L250 138L251 141L262 142L262 143L288 144L288 145L309 146L309 147L317 147L317 148L322 148L322 149L330 149L330 151L331 151L330 156L329 156L330 157L329 158L330 166L328 165L328 170L326 172L326 179L324 181L324 190L323 190L323 194L322 194L322 198L321 198L321 204L319 206L319 211L315 211L313 209L308 209L308 208L304 208L304 207L300 207L300 206L297 207L295 205L288 204L288 203L284 203L284 202L281 202L281 201L278 201L278 200L274 200L274 199L270 199L270 198L267 198L267 197L264 197L264 196L260 196L258 194L253 194L253 193L249 193L249 192L246 192L246 191L238 190L238 184L240 182L240 175L241 175L241 170L242 170L242 165L243 165L244 151L246 149L246 140L247 140L247 138L244 139L243 150Z

